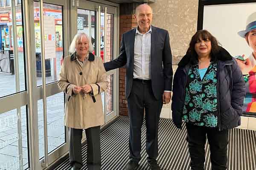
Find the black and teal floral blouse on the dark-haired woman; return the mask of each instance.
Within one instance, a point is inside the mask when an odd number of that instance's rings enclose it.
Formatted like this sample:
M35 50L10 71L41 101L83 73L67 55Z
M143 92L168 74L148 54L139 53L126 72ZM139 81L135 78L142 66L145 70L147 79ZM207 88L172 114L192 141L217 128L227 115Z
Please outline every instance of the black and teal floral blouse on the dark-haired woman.
M182 119L193 125L216 127L217 64L211 63L201 79L198 64L189 69Z

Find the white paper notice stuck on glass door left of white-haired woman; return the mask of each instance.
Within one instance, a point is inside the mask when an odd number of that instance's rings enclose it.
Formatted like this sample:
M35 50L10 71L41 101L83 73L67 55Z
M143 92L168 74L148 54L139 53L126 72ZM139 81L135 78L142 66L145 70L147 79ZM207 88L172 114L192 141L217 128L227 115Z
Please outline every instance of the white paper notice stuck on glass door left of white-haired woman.
M55 18L44 15L44 53L45 59L56 57Z

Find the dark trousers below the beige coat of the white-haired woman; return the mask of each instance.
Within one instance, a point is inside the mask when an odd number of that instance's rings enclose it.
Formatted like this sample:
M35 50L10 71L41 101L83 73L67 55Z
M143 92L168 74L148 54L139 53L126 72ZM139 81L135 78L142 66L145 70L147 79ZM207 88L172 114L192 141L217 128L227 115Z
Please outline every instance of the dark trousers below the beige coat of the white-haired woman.
M82 129L69 128L70 165L81 168L83 166L81 153ZM100 126L85 129L87 139L87 164L101 164Z

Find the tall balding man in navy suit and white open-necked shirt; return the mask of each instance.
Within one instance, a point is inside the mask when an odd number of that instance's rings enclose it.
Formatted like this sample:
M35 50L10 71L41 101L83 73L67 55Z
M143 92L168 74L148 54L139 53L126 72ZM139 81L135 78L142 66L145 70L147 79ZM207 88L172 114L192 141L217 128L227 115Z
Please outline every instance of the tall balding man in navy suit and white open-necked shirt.
M151 25L150 6L136 8L137 28L122 34L119 57L104 63L106 71L126 65L125 92L130 119L130 161L125 170L135 170L141 159L141 126L144 109L146 151L151 170L157 164L158 122L163 104L169 103L172 91L172 52L168 31Z

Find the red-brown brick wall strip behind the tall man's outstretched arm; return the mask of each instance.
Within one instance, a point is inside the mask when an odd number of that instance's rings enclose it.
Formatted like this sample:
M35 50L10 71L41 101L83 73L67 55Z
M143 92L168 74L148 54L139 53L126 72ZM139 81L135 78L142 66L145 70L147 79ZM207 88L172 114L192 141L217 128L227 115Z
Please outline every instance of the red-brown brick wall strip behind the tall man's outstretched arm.
M139 3L120 4L119 15L119 44L121 44L122 34L137 27L134 20L135 8ZM119 68L119 115L128 116L127 101L125 99L125 73L126 68Z

